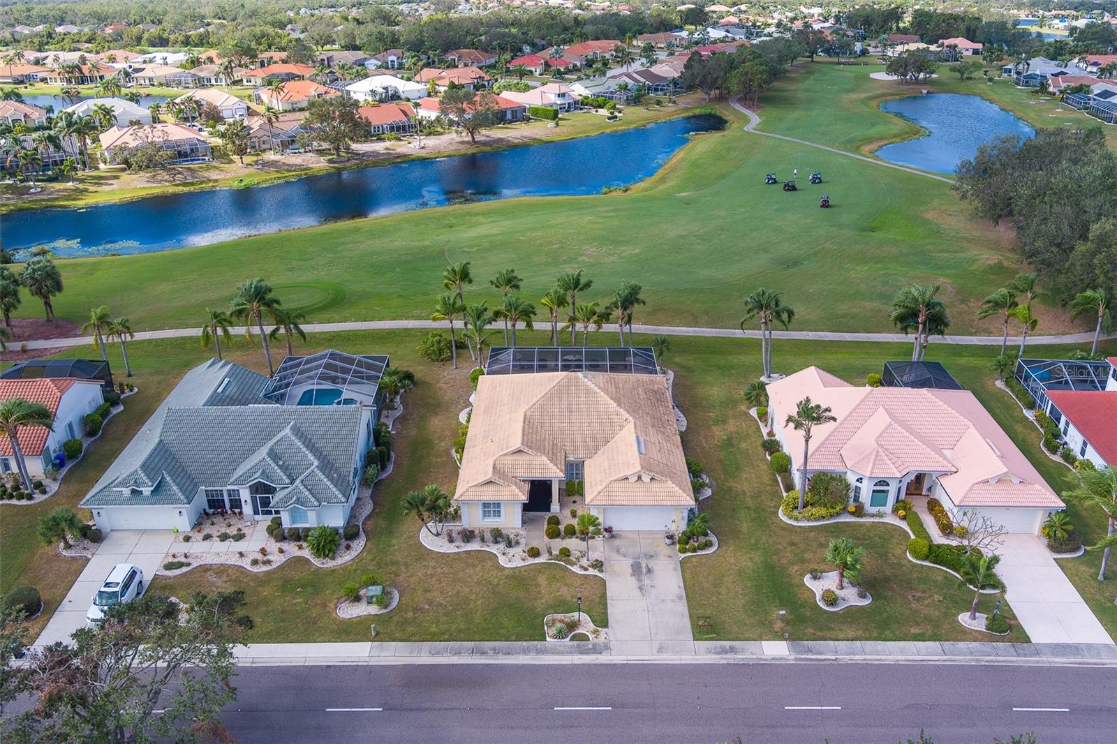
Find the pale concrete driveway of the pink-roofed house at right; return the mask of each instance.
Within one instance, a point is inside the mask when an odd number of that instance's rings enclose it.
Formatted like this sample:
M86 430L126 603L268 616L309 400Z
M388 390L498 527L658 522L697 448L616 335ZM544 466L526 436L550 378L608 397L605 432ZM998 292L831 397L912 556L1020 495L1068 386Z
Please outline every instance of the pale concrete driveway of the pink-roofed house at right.
M1033 643L1114 642L1039 536L1008 534L996 552L1009 603Z

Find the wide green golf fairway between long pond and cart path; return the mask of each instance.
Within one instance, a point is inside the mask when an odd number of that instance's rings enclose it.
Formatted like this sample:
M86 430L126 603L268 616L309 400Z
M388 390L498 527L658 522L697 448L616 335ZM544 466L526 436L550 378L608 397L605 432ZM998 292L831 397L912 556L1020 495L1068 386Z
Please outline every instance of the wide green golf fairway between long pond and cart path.
M793 327L889 331L897 287L941 282L952 332L995 332L976 321L976 305L1021 265L1011 238L972 220L947 184L748 134L720 108L733 126L696 137L629 194L447 207L66 260L55 305L78 319L107 304L136 330L190 326L203 307L225 305L237 283L262 276L280 297L292 285L328 294L311 321L424 318L446 263L468 260L479 285L467 292L471 302L496 302L487 282L500 268L524 277L531 299L581 268L594 282L589 299L608 302L621 279L642 284L648 305L638 322L722 327L735 327L742 299L766 286L796 308ZM764 185L765 172L792 163L828 174L833 209L819 209L809 188L789 194ZM37 305L27 299L19 312L37 315ZM1040 332L1068 328L1065 311L1042 311Z

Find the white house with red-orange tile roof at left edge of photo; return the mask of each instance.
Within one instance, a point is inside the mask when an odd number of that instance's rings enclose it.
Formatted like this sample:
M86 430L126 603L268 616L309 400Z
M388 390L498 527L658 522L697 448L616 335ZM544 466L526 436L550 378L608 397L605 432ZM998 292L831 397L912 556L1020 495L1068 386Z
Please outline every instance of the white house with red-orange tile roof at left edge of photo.
M32 380L0 379L0 400L22 398L47 407L54 417L50 429L46 427L20 427L19 447L23 451L27 471L32 477L41 477L52 464L55 455L61 452L67 439L80 439L82 419L93 413L105 402L101 380L77 378L40 378ZM17 465L11 442L0 438L0 470L15 473Z

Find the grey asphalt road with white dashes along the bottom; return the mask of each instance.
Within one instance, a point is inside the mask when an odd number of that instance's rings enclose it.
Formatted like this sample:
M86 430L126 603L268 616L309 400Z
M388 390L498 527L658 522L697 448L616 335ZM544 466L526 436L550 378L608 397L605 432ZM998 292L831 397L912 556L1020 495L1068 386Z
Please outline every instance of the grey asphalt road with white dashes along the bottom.
M1117 669L903 664L241 667L260 742L1117 741Z

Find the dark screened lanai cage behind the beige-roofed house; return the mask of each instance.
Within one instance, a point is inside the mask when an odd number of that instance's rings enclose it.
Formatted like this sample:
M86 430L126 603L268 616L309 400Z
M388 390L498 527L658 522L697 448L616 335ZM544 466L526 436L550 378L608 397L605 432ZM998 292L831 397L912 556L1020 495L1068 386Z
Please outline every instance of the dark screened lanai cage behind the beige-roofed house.
M657 374L650 346L494 346L486 374L524 372L620 372Z

